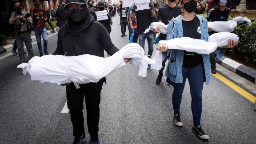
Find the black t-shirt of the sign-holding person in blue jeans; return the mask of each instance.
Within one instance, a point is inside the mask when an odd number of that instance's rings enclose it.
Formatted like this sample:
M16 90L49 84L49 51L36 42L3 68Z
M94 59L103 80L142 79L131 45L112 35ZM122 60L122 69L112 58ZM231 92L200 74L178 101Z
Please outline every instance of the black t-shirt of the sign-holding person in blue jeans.
M142 34L152 23L151 10L144 9L136 11L136 20L138 24L138 34ZM149 31L152 33L152 31Z

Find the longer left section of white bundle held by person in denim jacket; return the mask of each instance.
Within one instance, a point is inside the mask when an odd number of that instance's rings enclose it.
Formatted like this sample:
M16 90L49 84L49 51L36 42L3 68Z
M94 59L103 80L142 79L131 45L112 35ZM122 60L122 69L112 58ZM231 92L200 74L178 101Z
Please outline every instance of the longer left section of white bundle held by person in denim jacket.
M196 52L198 54L209 54L217 48L215 42L207 42L204 40L192 39L190 37L160 40L159 45L160 44L166 44L169 49L186 50L187 52Z

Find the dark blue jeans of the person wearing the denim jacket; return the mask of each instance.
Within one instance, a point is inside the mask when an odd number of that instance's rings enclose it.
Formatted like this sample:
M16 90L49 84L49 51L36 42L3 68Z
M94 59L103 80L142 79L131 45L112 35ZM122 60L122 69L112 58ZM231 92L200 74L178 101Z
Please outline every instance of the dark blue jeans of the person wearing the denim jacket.
M202 91L204 85L204 68L199 64L192 68L182 68L183 83L174 83L172 93L172 106L174 114L180 114L180 103L185 82L188 77L190 95L192 97L191 109L194 125L197 126L201 121L202 114Z

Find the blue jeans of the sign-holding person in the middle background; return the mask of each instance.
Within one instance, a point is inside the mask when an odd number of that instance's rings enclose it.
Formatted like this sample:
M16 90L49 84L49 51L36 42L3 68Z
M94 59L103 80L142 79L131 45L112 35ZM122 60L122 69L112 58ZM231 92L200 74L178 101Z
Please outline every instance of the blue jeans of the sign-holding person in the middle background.
M153 33L143 33L139 34L139 44L145 50L145 40L148 40L148 55L152 56L154 50L154 36Z

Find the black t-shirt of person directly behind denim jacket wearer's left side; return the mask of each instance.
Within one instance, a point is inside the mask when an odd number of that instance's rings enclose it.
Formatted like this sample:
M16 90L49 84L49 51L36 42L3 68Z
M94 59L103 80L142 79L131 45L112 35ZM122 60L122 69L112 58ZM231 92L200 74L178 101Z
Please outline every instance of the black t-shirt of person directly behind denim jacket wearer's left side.
M170 20L182 14L182 8L176 5L174 8L169 7L167 4L158 10L156 21L161 20L165 25L169 24ZM160 33L160 40L166 40L166 35Z

